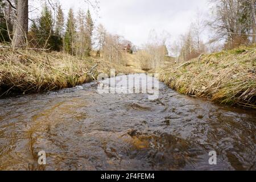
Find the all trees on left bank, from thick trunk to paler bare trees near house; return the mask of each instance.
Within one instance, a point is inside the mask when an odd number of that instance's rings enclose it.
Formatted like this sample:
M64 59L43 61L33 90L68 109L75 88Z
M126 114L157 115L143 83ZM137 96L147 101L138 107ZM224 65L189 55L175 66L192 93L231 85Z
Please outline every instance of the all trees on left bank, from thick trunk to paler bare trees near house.
M18 1L19 2L19 1ZM28 3L28 1L27 1ZM27 20L17 22L18 3L14 0L0 1L0 42L2 48L27 48L43 51L57 51L69 53L77 57L94 56L123 63L122 53L132 53L132 43L119 35L108 33L102 24L97 26L90 10L80 9L76 14L69 9L67 19L61 3L56 1L42 1L42 11L39 18L28 18L28 9L20 5ZM94 11L94 6L92 6ZM22 14L22 13L20 13ZM26 19L25 18L25 19ZM15 23L16 22L16 23ZM28 23L30 22L30 23ZM16 24L27 27L15 27ZM15 36L18 31L20 35ZM23 30L24 29L24 30Z

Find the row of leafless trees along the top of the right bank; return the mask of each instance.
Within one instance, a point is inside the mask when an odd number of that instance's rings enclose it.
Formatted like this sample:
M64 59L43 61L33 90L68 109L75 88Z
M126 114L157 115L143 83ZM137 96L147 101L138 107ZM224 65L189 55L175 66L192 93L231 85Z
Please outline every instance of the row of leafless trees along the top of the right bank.
M180 35L171 45L175 62L198 57L207 52L232 49L256 43L255 0L210 0L210 18L197 12L187 33ZM202 32L211 37L204 42Z

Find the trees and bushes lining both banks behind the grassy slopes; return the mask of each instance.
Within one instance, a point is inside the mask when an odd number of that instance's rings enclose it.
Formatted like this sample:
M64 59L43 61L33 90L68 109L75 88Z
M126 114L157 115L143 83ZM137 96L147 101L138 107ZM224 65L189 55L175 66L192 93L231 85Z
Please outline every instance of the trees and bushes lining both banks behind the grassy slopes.
M153 44L144 46L141 56L150 57L145 60L150 59L150 65L159 67L163 65L166 51L175 57L177 63L193 59L202 53L256 42L255 0L209 2L212 5L210 19L204 19L203 14L197 13L189 30L173 41L168 50L164 41L160 40L157 44L154 41ZM79 10L75 15L70 9L65 20L61 5L45 3L39 18L30 19L30 27L28 20L28 0L0 0L0 42L11 43L12 47L65 51L78 56L89 56L94 46L98 56L110 61L122 60L124 46L133 46L122 36L106 32L102 25L94 28L89 10L86 13ZM208 42L202 37L205 29L211 35ZM155 55L152 55L153 52Z

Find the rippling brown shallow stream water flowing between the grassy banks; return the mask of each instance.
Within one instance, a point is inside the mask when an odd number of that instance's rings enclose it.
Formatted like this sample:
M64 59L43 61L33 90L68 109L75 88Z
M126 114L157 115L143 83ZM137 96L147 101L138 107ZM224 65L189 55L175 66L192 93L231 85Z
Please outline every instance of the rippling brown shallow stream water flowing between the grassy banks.
M183 96L162 82L155 100L99 94L92 82L0 100L0 169L255 170L255 131L255 110Z

